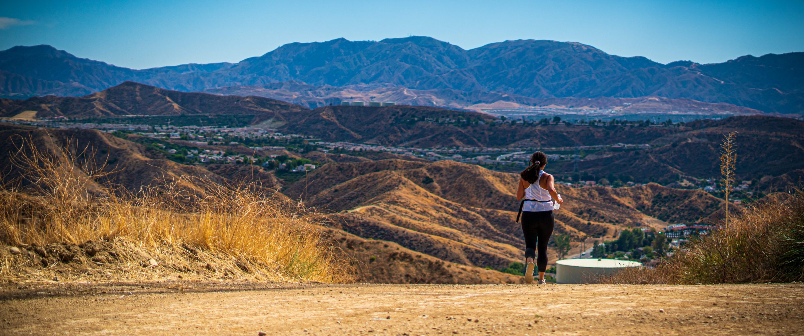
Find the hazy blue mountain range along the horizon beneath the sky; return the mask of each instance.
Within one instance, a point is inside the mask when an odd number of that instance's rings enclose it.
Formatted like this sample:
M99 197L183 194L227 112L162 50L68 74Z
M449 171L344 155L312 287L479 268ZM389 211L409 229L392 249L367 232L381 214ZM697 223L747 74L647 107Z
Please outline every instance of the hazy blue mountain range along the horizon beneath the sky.
M281 93L275 93L277 87L309 94L309 89L293 89L298 85L358 88L358 92L382 88L424 90L438 98L429 104L445 107L452 102L440 101L444 98L439 97L474 99L455 103L470 106L467 103L531 104L527 98L661 96L728 103L767 113L801 113L802 64L804 52L745 55L720 64L659 64L641 56L609 55L581 43L515 40L464 50L437 39L411 36L381 41L289 43L236 64L134 70L39 45L0 51L0 95L84 96L133 80L186 92L274 97ZM419 96L416 92L407 94ZM322 101L308 106L341 99L337 95L329 100L327 96L314 98L311 100Z

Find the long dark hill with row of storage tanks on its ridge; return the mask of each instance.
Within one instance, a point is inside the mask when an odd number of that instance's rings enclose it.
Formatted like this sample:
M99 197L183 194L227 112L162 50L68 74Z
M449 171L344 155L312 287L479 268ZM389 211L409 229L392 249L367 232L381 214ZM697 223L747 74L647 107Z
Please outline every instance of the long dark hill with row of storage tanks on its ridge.
M288 113L285 133L307 134L326 141L351 141L416 147L573 146L617 142L646 143L675 128L590 127L495 123L482 113L421 106L327 106Z

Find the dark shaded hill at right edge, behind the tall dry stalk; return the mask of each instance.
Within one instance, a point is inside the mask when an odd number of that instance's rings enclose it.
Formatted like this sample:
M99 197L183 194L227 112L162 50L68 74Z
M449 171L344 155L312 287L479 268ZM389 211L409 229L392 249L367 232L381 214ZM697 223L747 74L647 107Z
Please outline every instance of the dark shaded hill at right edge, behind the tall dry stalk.
M596 178L630 175L644 182L714 178L720 176L717 160L720 143L724 134L732 131L738 132L736 174L739 178L758 180L795 175L794 171L804 169L804 121L774 117L691 122L678 133L650 141L654 146L648 150L599 152L596 158L580 161L578 168ZM572 163L554 167L565 174L574 170Z

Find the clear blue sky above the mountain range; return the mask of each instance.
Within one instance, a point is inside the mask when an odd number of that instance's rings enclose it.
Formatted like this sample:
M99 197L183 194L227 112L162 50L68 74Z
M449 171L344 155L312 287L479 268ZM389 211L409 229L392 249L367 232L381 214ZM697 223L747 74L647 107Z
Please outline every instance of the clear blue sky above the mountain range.
M17 1L0 49L51 44L129 68L237 62L281 44L426 35L465 49L554 39L668 63L804 51L804 1Z

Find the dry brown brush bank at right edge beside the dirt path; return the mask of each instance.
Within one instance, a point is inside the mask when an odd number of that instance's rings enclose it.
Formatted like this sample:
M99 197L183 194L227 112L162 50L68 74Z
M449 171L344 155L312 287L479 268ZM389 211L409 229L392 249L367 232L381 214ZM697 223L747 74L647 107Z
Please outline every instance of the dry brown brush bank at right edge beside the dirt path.
M804 280L804 191L745 208L655 268L630 268L609 284L719 284Z

